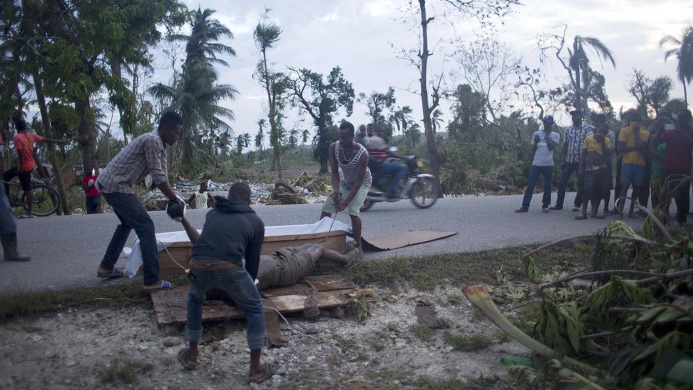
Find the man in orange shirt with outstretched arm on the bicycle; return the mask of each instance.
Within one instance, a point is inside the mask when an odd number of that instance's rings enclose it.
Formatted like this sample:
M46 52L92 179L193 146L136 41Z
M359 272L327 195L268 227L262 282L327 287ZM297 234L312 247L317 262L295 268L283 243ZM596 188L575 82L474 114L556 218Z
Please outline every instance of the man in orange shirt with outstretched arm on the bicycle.
M31 172L33 172L36 167L36 162L34 162L34 142L68 144L69 141L67 139L48 139L34 133L29 133L24 119L15 120L15 128L17 128L17 135L15 135L12 140L15 142L15 150L17 151L17 167L5 171L2 174L2 180L10 181L12 178L15 178L15 176L19 176L19 184L21 184L21 189L23 189L26 194L27 211L26 215L22 215L19 218L33 218L34 215L31 214L33 194L30 189ZM5 195L8 197L10 196L9 187L5 187Z

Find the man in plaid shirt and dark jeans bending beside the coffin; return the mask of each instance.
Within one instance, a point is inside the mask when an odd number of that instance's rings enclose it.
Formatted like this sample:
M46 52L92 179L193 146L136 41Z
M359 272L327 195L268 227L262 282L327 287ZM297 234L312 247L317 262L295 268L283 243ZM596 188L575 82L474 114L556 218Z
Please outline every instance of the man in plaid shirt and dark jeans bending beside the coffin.
M142 251L144 291L173 288L170 282L159 278L154 222L137 198L133 185L150 174L153 183L159 187L161 193L169 199L182 202L168 185L166 173L166 145L177 142L182 124L183 119L176 112L165 112L159 119L157 130L133 139L98 176L96 186L121 221L96 271L99 278L123 276L123 272L115 269L114 266L123 251L125 241L128 241L130 231L134 229L139 237L139 246Z

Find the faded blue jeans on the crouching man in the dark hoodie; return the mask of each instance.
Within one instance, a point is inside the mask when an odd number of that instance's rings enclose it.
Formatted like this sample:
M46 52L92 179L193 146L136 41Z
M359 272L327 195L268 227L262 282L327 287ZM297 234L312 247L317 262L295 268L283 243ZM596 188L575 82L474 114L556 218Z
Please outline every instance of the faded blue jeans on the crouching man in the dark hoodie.
M200 271L190 269L188 282L188 323L185 326L185 339L197 342L202 338L202 303L204 294L211 289L222 289L236 305L243 310L248 321L246 333L248 348L262 349L265 346L265 308L260 293L245 268L238 267L221 271Z

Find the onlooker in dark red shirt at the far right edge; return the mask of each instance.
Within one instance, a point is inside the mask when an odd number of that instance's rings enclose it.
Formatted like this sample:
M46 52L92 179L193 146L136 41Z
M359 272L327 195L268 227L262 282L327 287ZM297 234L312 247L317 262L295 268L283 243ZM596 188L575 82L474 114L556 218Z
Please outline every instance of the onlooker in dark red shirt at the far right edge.
M663 183L669 183L671 191L678 187L676 194L672 195L676 200L676 219L681 224L687 223L686 216L690 207L690 197L688 195L690 183L681 184L680 180L691 174L693 128L690 126L690 120L691 113L689 110L678 112L676 116L676 130L667 130L659 137L661 142L667 143L667 149L664 151L664 159L662 161L662 180Z

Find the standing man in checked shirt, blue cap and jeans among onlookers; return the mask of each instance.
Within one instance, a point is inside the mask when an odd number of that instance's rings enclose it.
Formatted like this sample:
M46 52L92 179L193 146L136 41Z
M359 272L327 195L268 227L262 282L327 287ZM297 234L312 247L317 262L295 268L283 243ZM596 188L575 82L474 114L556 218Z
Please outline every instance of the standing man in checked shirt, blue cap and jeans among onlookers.
M585 138L592 135L595 128L582 122L584 112L577 108L570 112L572 126L565 129L565 142L563 142L563 153L561 153L561 180L559 181L559 194L556 197L556 204L549 207L549 210L563 210L563 199L565 198L565 186L573 173L577 175L580 166L580 155ZM573 203L572 211L580 211L582 205L582 191L584 182L582 178L577 178L577 195Z

